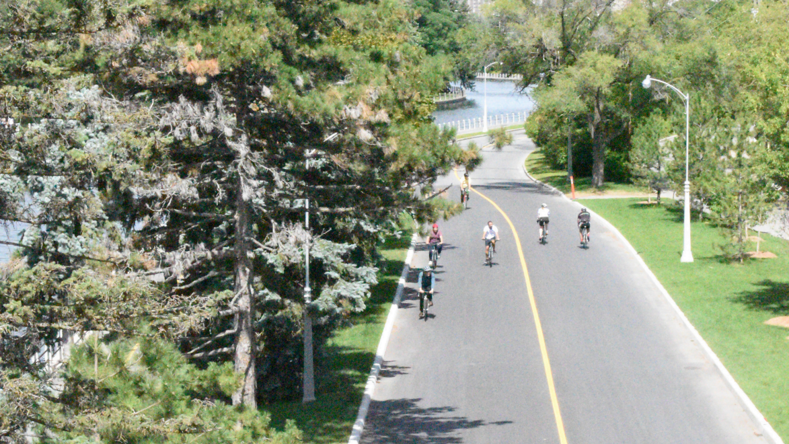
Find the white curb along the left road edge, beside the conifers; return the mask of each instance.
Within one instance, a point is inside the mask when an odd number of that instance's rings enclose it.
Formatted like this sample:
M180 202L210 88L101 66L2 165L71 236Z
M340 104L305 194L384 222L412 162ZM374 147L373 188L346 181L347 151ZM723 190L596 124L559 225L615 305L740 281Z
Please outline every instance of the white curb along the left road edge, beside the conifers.
M419 236L413 233L411 239L411 246L406 254L406 262L402 266L402 273L400 273L400 280L398 280L397 290L394 292L394 300L392 300L391 307L389 307L389 314L387 314L387 322L383 325L383 333L381 339L378 341L378 349L376 350L376 360L372 362L370 374L367 377L367 384L365 385L365 394L361 397L361 404L359 405L359 413L356 416L356 422L353 423L353 429L348 438L348 444L359 444L361 439L361 432L365 430L365 418L367 411L370 408L370 401L372 401L372 394L376 392L376 382L378 382L378 374L381 371L381 364L383 363L383 356L387 352L387 344L389 344L389 336L394 326L394 318L397 317L398 304L402 296L403 288L406 286L406 277L408 277L409 269L411 269L411 261L413 260L413 248L417 244Z

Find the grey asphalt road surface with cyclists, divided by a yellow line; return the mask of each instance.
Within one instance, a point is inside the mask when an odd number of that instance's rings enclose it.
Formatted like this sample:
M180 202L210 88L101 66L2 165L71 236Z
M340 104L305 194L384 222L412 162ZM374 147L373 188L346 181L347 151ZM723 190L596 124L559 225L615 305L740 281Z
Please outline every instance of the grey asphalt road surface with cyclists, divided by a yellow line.
M765 442L626 246L593 219L589 249L579 248L580 205L527 179L531 149L516 134L501 152L486 149L471 179L520 236L567 442ZM454 174L436 187L449 183L459 200ZM543 202L551 209L546 245L537 242ZM501 236L492 268L481 240L488 220ZM473 192L469 209L439 225L435 305L418 318L421 246L361 442L559 443L512 230Z

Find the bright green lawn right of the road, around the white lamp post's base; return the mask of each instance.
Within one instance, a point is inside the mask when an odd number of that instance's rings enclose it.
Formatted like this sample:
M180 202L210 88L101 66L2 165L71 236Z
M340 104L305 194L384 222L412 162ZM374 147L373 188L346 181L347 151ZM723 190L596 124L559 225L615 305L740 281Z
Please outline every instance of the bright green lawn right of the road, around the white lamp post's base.
M728 264L717 247L724 240L720 229L694 222L694 262L682 264L682 209L638 205L640 200L580 201L619 228L751 401L789 442L789 329L763 323L789 315L789 242L761 235L760 249L778 258Z

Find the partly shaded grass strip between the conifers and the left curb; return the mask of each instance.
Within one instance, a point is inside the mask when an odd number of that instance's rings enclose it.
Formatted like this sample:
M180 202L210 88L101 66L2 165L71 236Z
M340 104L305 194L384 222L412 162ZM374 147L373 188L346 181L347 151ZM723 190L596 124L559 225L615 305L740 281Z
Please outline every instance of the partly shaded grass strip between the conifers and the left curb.
M348 442L410 240L410 233L406 233L400 239L390 239L379 249L384 262L378 273L379 284L372 288L367 301L367 310L353 315L350 320L353 325L335 333L323 359L316 355L317 401L260 406L271 413L271 425L276 429L283 430L286 420L295 420L304 432L306 443Z

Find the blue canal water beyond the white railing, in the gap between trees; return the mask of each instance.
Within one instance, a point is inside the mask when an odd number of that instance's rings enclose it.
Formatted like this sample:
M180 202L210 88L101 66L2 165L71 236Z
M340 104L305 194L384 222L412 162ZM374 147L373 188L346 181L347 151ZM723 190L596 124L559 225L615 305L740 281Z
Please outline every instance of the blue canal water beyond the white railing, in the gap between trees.
M436 124L454 122L455 120L477 119L482 117L484 89L481 81L477 81L475 91L466 90L466 102L459 107L448 110L434 111ZM530 89L530 88L529 88ZM502 115L533 111L533 100L515 89L513 81L488 80L488 115Z

